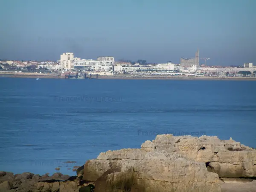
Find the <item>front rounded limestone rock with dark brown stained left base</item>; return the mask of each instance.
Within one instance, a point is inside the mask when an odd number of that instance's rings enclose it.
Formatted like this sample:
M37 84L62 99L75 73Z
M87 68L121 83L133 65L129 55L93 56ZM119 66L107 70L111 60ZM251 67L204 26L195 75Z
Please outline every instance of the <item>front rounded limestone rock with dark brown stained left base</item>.
M220 191L218 175L208 172L205 163L168 151L122 149L101 153L84 165L84 180L96 181L96 192Z

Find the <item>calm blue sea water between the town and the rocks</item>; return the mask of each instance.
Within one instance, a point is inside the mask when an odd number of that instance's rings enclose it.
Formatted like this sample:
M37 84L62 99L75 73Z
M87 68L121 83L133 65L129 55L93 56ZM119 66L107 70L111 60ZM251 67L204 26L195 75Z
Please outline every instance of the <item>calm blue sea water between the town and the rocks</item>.
M256 147L256 81L0 78L0 170L75 175L167 133Z

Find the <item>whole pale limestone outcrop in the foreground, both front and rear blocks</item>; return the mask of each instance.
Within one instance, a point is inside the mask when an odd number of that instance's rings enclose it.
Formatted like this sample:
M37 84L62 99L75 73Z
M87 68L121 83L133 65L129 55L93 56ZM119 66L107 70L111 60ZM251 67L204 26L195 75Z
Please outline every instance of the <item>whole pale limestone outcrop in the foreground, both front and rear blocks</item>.
M256 151L218 137L157 135L141 149L100 153L84 165L95 192L220 192L219 177L255 177Z

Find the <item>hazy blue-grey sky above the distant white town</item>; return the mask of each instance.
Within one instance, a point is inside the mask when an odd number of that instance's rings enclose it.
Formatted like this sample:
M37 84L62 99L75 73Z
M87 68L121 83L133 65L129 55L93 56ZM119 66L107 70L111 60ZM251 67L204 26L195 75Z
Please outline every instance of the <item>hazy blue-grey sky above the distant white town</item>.
M256 0L0 0L0 59L256 65ZM204 64L204 60L200 60Z

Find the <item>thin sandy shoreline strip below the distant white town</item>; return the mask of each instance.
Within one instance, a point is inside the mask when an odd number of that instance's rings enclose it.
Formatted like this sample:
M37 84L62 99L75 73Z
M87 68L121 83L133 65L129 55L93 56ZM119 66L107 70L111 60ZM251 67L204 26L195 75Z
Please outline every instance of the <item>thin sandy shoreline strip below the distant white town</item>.
M14 75L14 74L0 74L0 77L11 78L44 78L44 79L65 79L62 76L56 75ZM89 78L90 79L90 78ZM93 76L91 79L96 79ZM188 76L98 76L98 79L139 79L139 80L243 80L243 81L256 81L256 77L188 77Z

